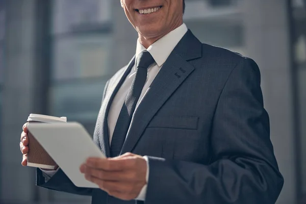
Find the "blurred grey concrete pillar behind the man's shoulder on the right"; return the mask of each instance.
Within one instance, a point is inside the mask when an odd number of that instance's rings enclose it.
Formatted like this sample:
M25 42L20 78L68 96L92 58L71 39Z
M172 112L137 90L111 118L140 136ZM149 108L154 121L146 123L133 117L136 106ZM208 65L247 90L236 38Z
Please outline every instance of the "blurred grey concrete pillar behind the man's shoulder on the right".
M287 0L245 0L245 52L262 74L271 140L285 184L277 203L296 203L293 96Z

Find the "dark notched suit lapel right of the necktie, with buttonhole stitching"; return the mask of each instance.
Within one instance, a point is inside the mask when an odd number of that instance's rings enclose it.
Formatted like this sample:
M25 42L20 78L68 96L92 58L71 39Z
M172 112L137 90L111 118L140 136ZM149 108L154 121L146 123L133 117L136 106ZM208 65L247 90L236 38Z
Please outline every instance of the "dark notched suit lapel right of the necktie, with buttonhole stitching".
M135 110L121 154L133 150L149 121L192 73L194 67L188 60L201 57L201 47L190 30L176 45Z

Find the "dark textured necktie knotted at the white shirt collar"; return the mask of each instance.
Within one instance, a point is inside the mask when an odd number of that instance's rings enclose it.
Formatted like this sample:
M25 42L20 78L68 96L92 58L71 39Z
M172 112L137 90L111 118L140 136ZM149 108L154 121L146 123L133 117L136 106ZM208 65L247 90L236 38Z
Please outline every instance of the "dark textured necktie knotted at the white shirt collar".
M147 68L152 63L154 63L154 59L147 51L141 52L137 57L137 71L130 90L126 94L113 133L111 141L111 157L117 157L120 154L127 131L130 127L137 101L146 82Z

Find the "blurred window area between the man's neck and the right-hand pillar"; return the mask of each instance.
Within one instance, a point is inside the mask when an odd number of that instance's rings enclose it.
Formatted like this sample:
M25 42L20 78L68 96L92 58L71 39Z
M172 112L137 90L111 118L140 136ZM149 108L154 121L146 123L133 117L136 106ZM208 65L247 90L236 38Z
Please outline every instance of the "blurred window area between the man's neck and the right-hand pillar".
M242 8L237 0L186 0L184 22L203 43L244 53Z

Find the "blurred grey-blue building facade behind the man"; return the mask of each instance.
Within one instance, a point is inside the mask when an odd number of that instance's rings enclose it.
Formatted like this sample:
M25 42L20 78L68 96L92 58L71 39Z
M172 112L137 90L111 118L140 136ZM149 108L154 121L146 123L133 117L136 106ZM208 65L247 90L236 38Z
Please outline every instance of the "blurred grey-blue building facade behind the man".
M306 203L306 1L186 0L184 18L202 42L259 64L285 177L277 203ZM0 203L90 203L35 186L35 169L20 164L21 127L40 113L93 134L105 83L136 40L119 0L0 0Z

